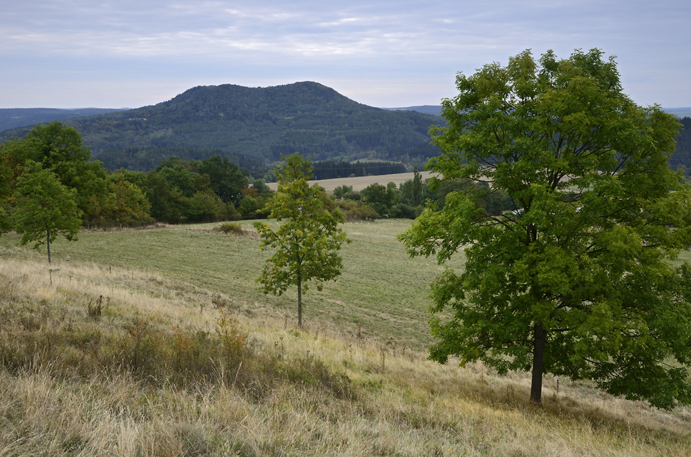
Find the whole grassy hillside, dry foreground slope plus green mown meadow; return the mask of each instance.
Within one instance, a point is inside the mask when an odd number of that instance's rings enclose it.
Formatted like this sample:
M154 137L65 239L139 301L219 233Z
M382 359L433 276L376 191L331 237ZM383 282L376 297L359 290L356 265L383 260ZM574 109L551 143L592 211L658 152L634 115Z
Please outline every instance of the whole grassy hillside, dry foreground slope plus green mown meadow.
M395 240L409 221L345 224L302 331L243 224L88 231L50 266L0 237L0 456L688 456L688 408L551 376L536 408L524 373L426 360L442 267Z

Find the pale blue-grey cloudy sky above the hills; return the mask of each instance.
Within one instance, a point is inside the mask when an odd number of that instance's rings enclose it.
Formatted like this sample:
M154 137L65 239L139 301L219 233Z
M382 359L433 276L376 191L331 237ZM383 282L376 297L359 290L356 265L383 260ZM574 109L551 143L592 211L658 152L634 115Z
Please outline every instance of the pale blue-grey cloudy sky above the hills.
M139 108L194 86L316 81L438 105L530 49L616 56L643 106L691 106L690 0L0 0L0 108Z

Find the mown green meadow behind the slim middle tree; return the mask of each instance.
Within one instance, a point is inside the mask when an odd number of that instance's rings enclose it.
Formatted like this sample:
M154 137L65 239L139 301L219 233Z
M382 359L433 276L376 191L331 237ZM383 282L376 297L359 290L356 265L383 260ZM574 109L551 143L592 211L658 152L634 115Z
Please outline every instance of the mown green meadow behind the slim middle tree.
M251 221L241 222L254 231ZM344 268L337 282L304 295L305 324L357 331L378 340L422 349L427 338L428 284L442 271L433 259L410 259L395 236L410 221L379 220L346 224L352 244L343 247ZM263 295L256 278L266 257L252 232L232 237L212 230L217 224L168 226L156 230L87 231L79 241L58 240L51 252L57 262L96 262L133 271L157 273L220 293L239 307L270 310L296 318L297 294ZM5 246L17 237L0 238ZM21 255L44 255L22 249Z

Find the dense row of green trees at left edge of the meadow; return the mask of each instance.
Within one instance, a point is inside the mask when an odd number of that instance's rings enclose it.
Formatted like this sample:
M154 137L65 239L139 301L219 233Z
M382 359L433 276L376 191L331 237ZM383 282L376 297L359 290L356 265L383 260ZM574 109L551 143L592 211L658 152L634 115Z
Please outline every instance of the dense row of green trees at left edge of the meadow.
M57 121L0 144L0 230L22 233L22 244L47 244L49 259L56 236L72 239L83 227L255 219L270 193L220 155L108 172L91 161L77 130Z

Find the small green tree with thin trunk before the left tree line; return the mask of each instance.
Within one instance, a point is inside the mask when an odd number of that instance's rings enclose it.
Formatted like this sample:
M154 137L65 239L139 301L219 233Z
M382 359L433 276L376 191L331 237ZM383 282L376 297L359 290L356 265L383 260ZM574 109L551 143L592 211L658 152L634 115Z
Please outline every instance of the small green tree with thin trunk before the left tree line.
M17 179L15 199L16 230L22 233L21 244L35 242L34 249L43 244L48 248L58 235L76 240L82 228L81 211L75 202L77 191L68 190L52 171L36 162L26 162L24 172Z

